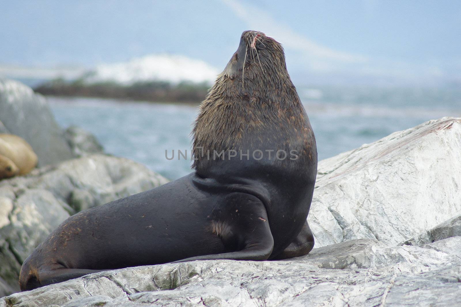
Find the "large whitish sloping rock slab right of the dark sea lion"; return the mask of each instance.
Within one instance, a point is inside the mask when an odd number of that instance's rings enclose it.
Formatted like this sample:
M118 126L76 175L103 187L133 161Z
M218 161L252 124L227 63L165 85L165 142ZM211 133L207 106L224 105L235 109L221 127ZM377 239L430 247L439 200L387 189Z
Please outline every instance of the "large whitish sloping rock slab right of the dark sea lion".
M315 247L398 244L461 211L461 119L444 117L319 162Z

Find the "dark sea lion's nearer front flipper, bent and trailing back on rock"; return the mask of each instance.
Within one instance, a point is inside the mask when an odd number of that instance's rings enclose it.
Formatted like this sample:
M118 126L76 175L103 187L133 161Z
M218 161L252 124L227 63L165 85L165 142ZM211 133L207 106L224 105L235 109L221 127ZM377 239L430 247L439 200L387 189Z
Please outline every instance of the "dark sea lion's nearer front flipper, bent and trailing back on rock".
M174 262L194 260L267 260L274 248L267 212L259 198L235 192L213 209L211 227L223 241L228 253L190 257Z

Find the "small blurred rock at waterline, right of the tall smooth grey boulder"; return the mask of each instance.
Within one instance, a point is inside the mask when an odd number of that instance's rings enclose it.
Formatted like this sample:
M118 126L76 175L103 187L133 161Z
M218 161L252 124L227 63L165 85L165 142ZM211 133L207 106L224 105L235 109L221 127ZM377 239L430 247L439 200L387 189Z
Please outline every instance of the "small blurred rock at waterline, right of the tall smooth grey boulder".
M94 153L103 153L102 145L96 137L88 131L71 126L65 130L64 137L71 147L74 156L87 156Z

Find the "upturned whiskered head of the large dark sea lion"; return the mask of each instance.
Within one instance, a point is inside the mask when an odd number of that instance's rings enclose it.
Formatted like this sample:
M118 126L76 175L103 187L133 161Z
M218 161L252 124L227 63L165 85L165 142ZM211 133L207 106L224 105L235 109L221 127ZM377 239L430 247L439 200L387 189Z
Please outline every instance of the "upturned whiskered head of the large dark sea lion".
M237 51L219 77L245 92L261 85L278 86L290 79L282 45L259 31L242 33Z

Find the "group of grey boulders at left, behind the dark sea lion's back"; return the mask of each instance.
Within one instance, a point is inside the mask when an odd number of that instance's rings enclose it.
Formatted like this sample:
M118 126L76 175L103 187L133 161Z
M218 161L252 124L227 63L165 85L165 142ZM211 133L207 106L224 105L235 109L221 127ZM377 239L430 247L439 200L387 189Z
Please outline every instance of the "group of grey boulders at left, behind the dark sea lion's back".
M62 129L46 100L15 81L0 80L0 127L26 139L39 159L27 176L0 180L0 296L19 291L23 261L71 214L168 182L105 155L91 133Z

